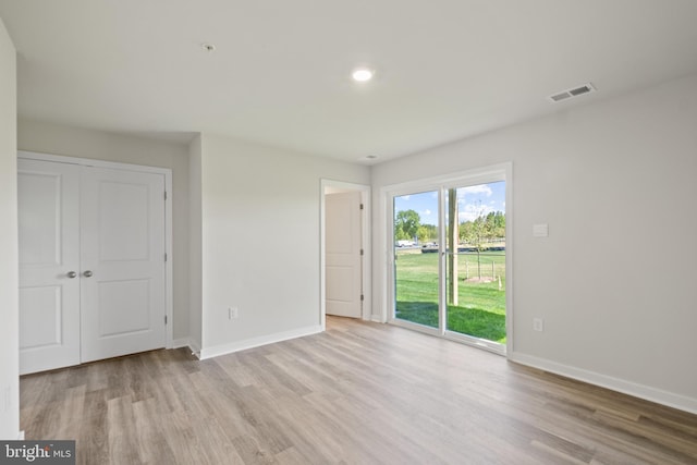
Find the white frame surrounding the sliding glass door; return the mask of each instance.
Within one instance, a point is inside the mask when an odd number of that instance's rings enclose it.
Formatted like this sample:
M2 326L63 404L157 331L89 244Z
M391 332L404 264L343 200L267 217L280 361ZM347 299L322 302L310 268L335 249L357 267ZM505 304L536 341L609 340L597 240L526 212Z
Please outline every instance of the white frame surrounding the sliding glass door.
M466 171L448 173L440 176L426 178L420 180L407 181L399 184L391 184L380 188L380 246L383 250L383 258L380 259L380 320L395 326L406 327L408 329L421 331L431 335L442 336L444 339L455 340L465 344L475 345L477 347L501 354L500 351L487 346L486 344L476 344L463 338L451 334L443 330L444 322L442 315L439 318L439 328L420 327L418 325L402 322L394 318L395 289L394 289L394 211L392 198L394 196L413 194L415 192L436 191L439 193L439 221L441 223L441 241L443 238L443 221L444 207L441 205L440 197L442 189L461 185L485 184L493 181L505 181L505 331L506 344L505 354L513 353L513 163L504 162L488 167L474 168ZM439 281L443 280L443 264L439 254ZM439 301L443 299L442 290L439 290ZM443 305L439 302L439 311L443 313ZM501 354L501 355L505 355Z

